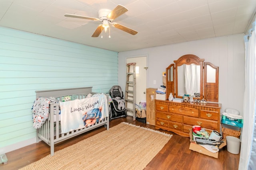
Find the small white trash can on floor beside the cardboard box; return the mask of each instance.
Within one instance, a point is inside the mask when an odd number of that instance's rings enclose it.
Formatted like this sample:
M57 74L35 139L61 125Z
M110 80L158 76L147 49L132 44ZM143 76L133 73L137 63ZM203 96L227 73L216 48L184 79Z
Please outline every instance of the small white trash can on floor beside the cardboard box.
M232 154L239 154L241 140L237 137L227 136L227 150Z

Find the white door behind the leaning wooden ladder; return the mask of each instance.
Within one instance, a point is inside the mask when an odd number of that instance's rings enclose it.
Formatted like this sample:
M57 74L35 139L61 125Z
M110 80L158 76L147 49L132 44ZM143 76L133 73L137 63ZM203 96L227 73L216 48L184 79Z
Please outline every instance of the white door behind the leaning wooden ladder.
M133 57L127 58L126 63L136 63L137 72L136 72L136 104L140 102L146 102L146 87L147 87L147 57ZM127 115L133 116L133 113L130 111L127 112Z

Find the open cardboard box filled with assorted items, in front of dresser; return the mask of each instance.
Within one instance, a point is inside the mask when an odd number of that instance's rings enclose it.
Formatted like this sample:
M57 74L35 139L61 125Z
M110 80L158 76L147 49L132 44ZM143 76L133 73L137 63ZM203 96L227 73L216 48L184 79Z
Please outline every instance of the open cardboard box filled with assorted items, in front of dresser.
M192 127L190 131L190 150L218 158L219 150L226 146L226 141L222 139L221 133L212 131L208 133L198 125Z

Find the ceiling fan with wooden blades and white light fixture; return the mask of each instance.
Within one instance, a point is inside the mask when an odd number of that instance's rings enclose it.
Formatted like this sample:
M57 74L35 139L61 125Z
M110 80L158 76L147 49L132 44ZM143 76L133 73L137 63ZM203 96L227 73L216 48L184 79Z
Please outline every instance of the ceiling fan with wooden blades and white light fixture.
M119 17L120 15L124 14L125 12L127 12L128 9L125 8L122 5L118 5L116 6L116 8L114 8L114 10L108 10L108 9L101 9L98 11L99 14L99 18L93 18L93 17L86 17L86 16L78 16L78 15L74 15L74 14L65 14L64 16L66 17L72 17L72 18L82 18L82 19L86 19L86 20L94 20L94 21L102 21L102 24L100 24L96 30L94 31L94 33L92 34L92 37L98 37L100 35L100 33L102 33L102 30L104 29L105 31L108 29L109 25L112 25L113 27L116 27L118 29L121 29L122 31L125 31L127 33L130 33L132 35L137 34L138 32L130 29L124 25L121 25L119 23L113 22L112 21Z

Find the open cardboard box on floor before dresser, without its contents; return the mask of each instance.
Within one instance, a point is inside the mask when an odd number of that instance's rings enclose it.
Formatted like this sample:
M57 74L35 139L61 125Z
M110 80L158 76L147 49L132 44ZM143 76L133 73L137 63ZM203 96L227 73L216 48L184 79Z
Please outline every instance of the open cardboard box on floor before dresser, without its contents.
M190 150L193 150L193 151L196 151L196 152L208 155L208 156L212 156L214 158L218 158L219 152L216 152L216 153L210 152L209 150L205 149L204 147L196 144L196 141L193 140L192 131L190 131L189 136L190 136L190 145L189 145ZM227 145L226 139L223 139L223 140L224 140L224 143L220 144L219 149L222 149L224 146Z

